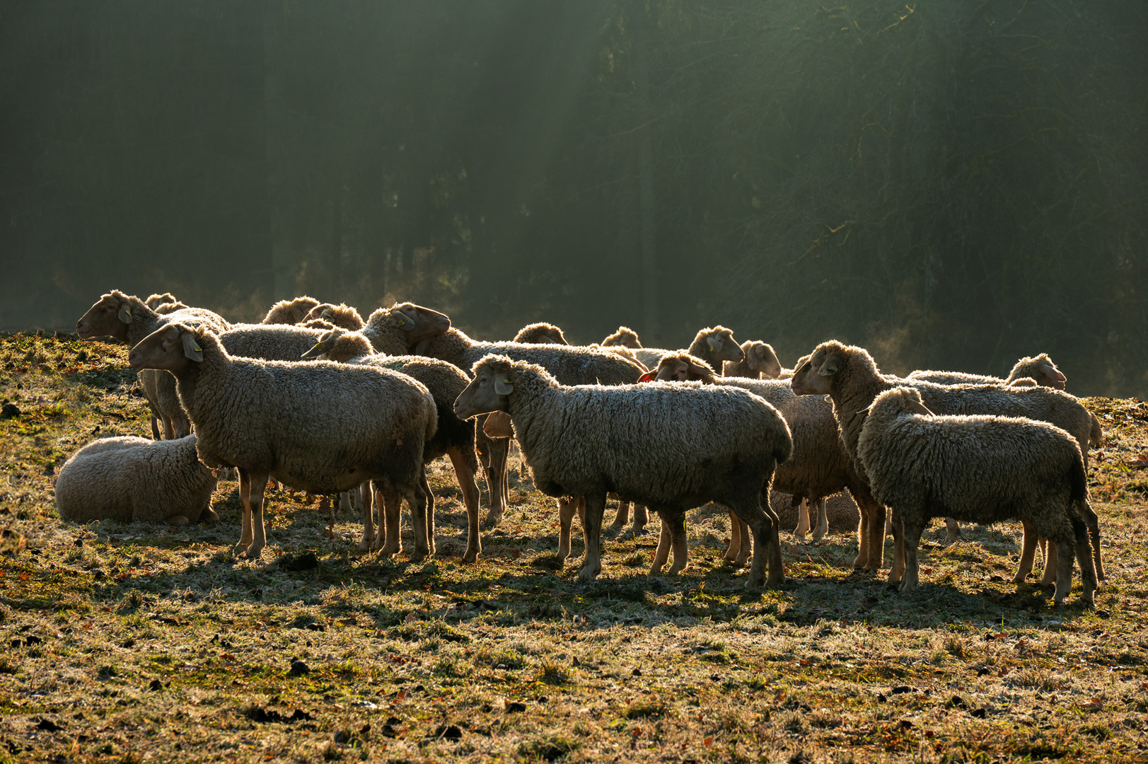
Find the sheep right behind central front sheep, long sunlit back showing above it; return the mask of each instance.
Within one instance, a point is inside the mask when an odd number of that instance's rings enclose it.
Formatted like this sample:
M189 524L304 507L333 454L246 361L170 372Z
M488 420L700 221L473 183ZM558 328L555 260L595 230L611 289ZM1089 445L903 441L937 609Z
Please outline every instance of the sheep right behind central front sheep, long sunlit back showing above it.
M364 332L365 333L365 332ZM378 346L377 346L378 347ZM463 371L470 371L483 356L496 353L515 361L537 363L564 385L627 385L638 380L645 369L604 348L588 348L563 345L526 345L521 342L481 342L472 340L457 329L419 342L417 353L453 363ZM490 486L490 511L486 523L497 525L506 510L509 491L506 483L506 457L510 442L504 439L478 438L480 456ZM483 447L489 452L482 454Z

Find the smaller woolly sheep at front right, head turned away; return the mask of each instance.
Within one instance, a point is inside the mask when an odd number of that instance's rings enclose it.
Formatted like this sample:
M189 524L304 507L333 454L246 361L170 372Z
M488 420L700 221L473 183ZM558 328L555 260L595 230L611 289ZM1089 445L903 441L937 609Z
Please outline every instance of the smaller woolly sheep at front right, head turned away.
M917 545L938 516L972 523L1017 518L1057 549L1057 607L1080 562L1084 593L1093 604L1096 571L1088 532L1076 511L1088 478L1072 435L1024 417L934 416L913 387L877 395L858 435L856 455L874 496L893 512L905 543L901 592L917 586Z

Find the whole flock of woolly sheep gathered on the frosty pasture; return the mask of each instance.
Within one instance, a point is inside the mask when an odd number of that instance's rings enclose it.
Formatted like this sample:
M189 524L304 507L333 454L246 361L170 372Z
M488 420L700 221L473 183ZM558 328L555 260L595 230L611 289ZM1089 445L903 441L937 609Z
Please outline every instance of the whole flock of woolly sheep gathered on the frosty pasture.
M602 345L571 346L557 326L530 324L507 342L471 339L437 311L412 303L364 321L311 298L277 303L262 324L231 324L170 294L104 294L77 322L82 338L111 337L152 409L154 440L108 438L61 469L62 519L186 524L218 519L215 471L236 468L243 506L239 551L259 557L269 479L313 494L358 495L359 549L402 550L405 500L413 560L435 553L434 496L425 466L449 456L468 517L465 562L481 553L481 466L488 526L505 511L506 460L517 439L536 488L558 499L558 554L569 555L581 517L585 558L602 571L607 495L615 526L661 519L652 573L673 551L687 565L685 514L706 502L729 510L726 557L751 562L746 586L784 580L770 488L800 502L799 532L824 534L827 501L847 489L860 512L858 569L918 581L917 546L929 520L1019 519L1016 581L1045 545L1042 585L1061 604L1080 565L1081 602L1103 579L1100 528L1088 502L1088 447L1100 424L1063 392L1046 355L1022 358L1008 379L917 371L881 373L862 348L829 341L784 369L773 348L738 345L723 326L689 348L644 348L626 327ZM194 434L192 429L194 427ZM378 504L378 528L373 507Z

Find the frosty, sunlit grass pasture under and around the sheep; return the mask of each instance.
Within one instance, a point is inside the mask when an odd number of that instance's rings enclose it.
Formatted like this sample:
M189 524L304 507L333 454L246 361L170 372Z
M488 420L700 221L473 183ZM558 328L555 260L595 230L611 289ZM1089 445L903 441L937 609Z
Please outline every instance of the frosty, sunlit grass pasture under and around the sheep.
M281 491L236 561L233 481L218 527L62 523L67 456L149 432L133 386L123 347L0 337L0 761L1148 761L1145 403L1085 401L1108 580L1084 610L1079 577L1062 609L1008 582L1011 525L944 548L937 523L912 596L851 571L854 537L788 533L790 582L747 594L724 512L697 511L683 574L646 576L654 519L580 584L518 457L476 565L445 462L419 564Z

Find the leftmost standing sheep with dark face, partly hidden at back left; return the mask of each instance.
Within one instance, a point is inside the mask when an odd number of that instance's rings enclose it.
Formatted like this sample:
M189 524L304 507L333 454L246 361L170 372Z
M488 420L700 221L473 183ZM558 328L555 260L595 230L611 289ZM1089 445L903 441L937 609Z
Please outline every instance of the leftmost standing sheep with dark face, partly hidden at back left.
M176 321L208 326L216 331L224 331L231 326L223 316L203 308L183 308L161 316L144 300L124 294L119 290L113 290L102 295L80 316L79 321L76 322L76 333L82 339L111 337L132 347L162 324ZM163 437L169 440L191 434L192 425L179 404L179 398L176 395L176 380L171 375L162 371L144 371L137 376L140 389L144 391L144 396L147 399L148 408L152 409L152 435L155 440L158 440L161 435L158 426L161 422L164 430Z

